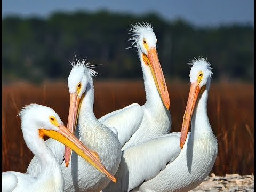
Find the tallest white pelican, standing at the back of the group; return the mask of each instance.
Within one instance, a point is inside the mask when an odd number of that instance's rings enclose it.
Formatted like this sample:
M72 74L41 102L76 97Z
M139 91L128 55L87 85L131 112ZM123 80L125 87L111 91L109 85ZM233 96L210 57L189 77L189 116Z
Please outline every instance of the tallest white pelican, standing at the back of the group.
M133 103L99 119L104 125L117 129L122 151L171 130L170 99L158 60L156 35L149 23L133 25L130 31L143 71L146 103L142 106Z

